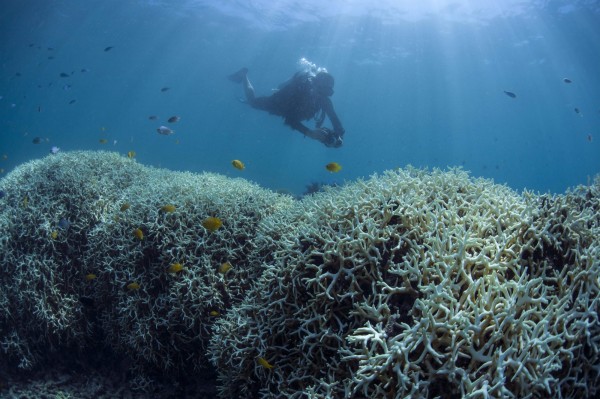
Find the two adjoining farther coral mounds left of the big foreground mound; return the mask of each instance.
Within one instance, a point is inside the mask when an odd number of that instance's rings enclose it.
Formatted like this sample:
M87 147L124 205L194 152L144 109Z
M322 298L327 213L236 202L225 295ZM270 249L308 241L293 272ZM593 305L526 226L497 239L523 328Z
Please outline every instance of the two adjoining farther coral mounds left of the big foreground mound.
M66 349L109 348L140 376L193 374L207 363L215 315L260 275L246 261L258 223L292 204L242 179L110 153L30 162L1 186L0 363L21 369ZM218 231L202 227L209 216L222 220ZM176 262L184 269L169 273ZM226 275L222 262L232 265Z

